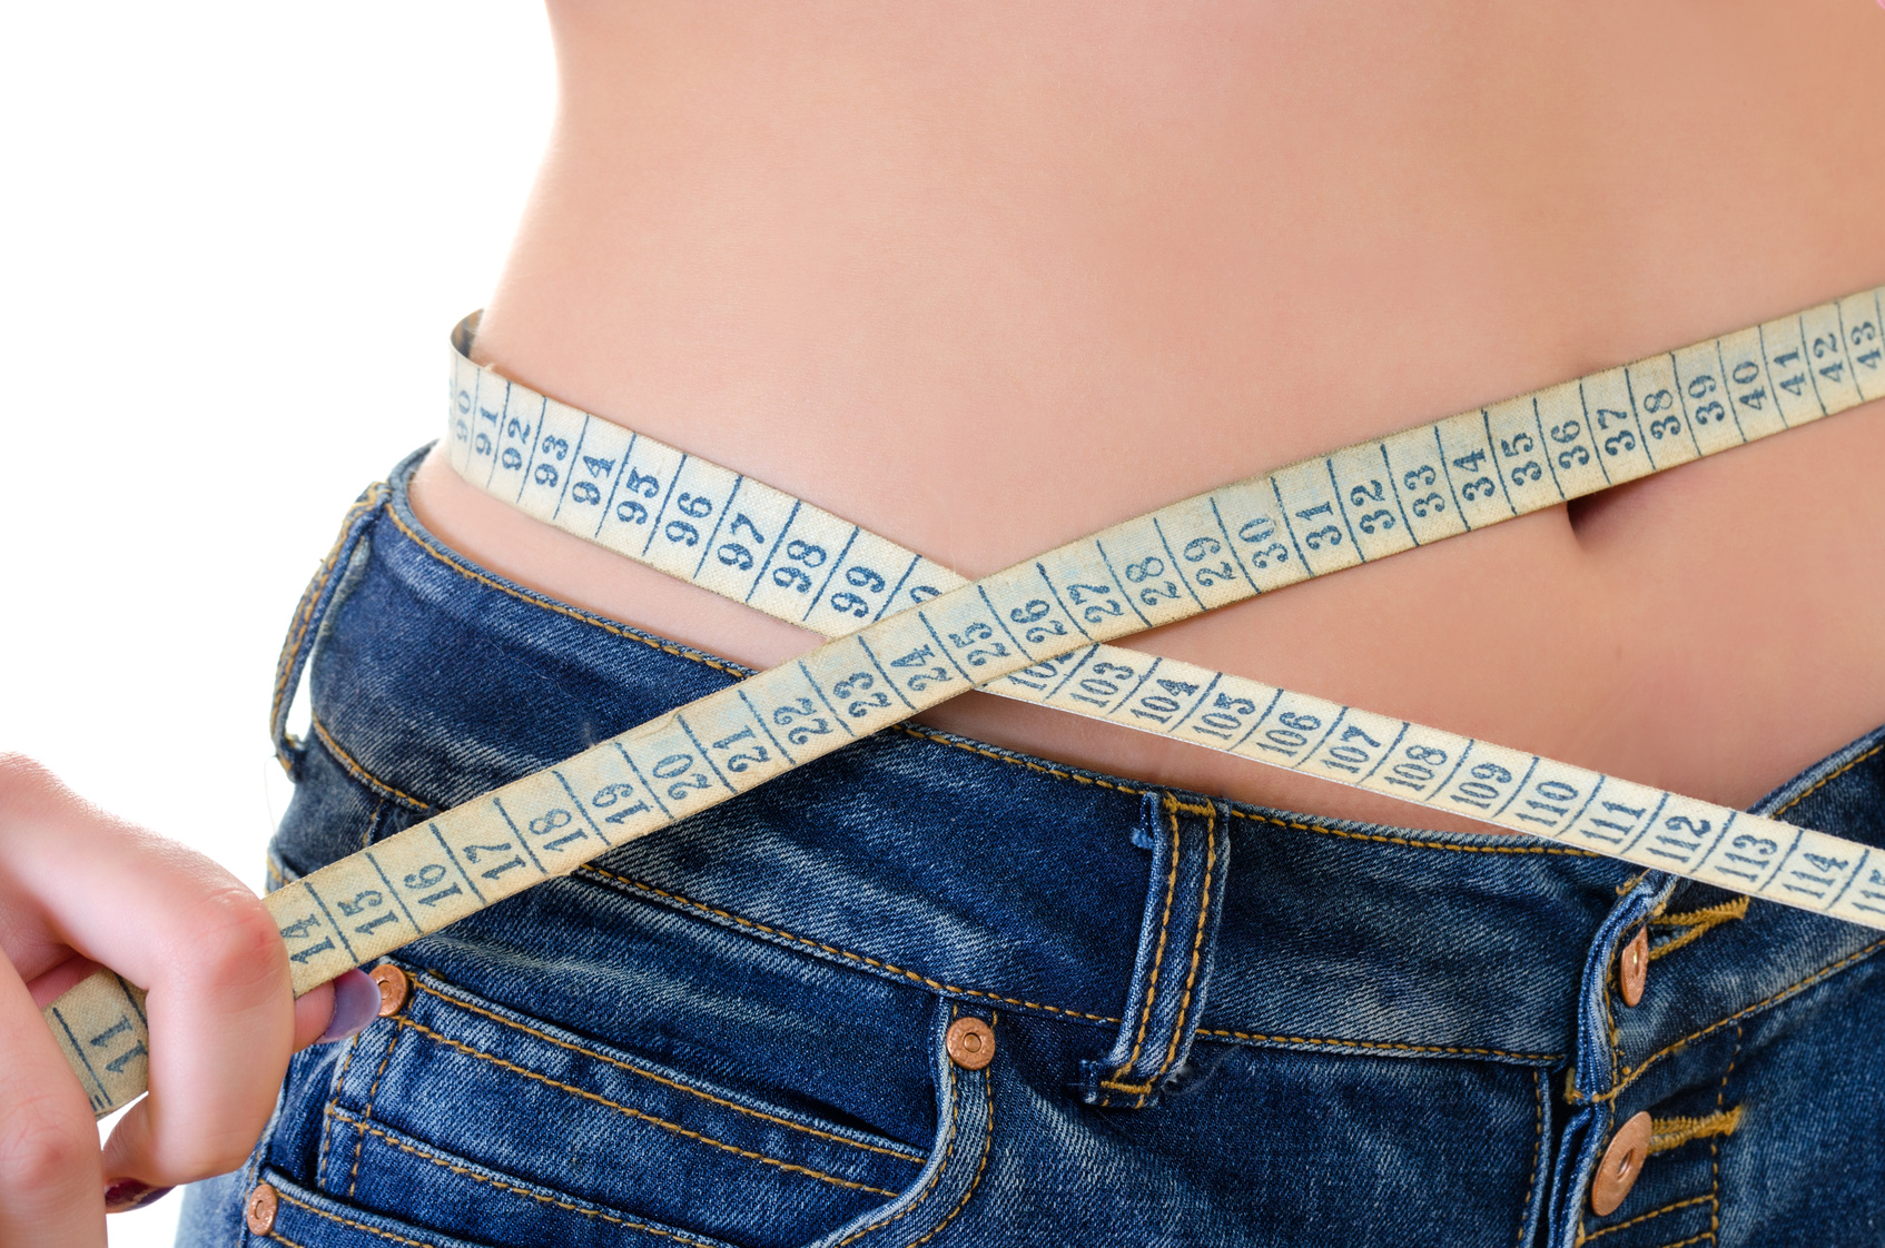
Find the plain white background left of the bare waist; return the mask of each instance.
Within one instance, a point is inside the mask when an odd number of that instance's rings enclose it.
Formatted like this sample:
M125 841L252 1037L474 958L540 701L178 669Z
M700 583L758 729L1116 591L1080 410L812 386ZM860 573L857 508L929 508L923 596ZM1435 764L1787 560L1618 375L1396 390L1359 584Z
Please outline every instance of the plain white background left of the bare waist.
M520 0L0 6L0 748L260 884L281 635L443 428L552 85Z

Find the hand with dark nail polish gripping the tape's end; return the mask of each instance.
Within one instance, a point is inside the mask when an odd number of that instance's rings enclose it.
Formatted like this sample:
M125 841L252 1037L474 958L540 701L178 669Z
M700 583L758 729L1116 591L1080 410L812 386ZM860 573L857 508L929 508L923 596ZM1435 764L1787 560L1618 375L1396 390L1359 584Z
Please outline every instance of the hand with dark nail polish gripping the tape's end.
M102 1152L40 1014L100 963L149 992L151 1022L151 1095ZM239 880L0 754L0 1244L100 1248L107 1203L241 1165L290 1052L371 1020L371 980L336 984L296 1001L281 933Z

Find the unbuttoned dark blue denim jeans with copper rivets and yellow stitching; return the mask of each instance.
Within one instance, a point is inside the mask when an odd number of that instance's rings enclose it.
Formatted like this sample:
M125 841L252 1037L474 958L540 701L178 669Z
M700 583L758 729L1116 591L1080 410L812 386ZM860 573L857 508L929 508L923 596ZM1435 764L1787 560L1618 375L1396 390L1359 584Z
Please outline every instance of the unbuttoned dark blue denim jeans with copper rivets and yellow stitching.
M277 880L745 675L443 549L415 464L290 633ZM1885 730L1757 809L1885 843ZM181 1242L1877 1244L1876 937L910 726L400 950L403 1007L296 1058Z

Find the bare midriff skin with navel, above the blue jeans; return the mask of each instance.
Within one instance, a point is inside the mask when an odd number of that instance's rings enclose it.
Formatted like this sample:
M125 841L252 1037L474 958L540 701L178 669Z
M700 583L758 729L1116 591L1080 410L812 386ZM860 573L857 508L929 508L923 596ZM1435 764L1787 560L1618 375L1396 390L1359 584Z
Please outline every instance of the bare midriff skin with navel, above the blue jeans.
M479 360L967 577L1885 283L1870 0L550 15ZM756 667L816 643L439 454L415 503L605 616ZM1885 722L1885 403L1127 645L1747 805ZM926 722L1485 829L984 694Z

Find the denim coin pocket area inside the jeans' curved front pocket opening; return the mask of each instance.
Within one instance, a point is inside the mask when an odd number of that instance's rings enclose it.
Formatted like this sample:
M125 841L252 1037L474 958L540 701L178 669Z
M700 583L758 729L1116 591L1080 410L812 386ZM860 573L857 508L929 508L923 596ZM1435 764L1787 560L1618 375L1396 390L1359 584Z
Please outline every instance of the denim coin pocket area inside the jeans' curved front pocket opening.
M929 1159L424 975L334 1093L320 1188L473 1242L788 1248L895 1201Z

